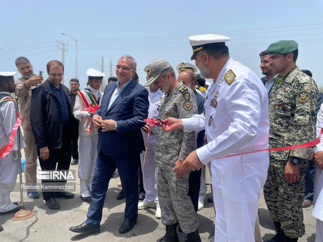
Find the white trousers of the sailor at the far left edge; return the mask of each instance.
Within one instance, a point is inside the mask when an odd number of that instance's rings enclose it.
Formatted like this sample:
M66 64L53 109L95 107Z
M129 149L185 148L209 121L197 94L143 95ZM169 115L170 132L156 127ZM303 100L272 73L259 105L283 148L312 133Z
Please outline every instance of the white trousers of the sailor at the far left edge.
M17 154L17 151L11 151L4 158L0 158L0 212L17 207L10 200L10 192L15 188L19 169Z

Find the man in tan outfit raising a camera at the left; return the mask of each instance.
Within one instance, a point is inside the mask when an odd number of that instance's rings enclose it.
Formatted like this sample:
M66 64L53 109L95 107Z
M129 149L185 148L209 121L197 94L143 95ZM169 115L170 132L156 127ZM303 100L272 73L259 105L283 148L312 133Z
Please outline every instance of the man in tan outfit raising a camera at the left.
M15 95L19 98L21 113L21 127L24 130L25 147L25 179L27 185L36 183L37 170L37 148L35 145L35 137L30 125L30 100L31 90L36 88L44 79L42 75L34 75L33 66L26 57L18 57L16 59L16 67L21 74L21 78L16 81ZM39 194L36 190L28 190L29 198L38 198Z

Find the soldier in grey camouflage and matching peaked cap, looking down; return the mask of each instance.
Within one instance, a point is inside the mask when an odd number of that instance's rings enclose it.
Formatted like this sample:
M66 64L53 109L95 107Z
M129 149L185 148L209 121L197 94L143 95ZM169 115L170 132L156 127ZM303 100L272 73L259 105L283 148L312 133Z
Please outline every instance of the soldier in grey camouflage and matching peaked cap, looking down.
M151 78L145 86L156 82L162 92L167 92L159 110L159 118L185 118L197 114L196 97L193 91L178 82L171 65L157 59L149 65ZM156 166L158 170L158 196L161 208L161 223L166 234L161 242L178 241L176 225L188 233L186 241L201 241L197 216L188 194L190 171L182 167L185 158L196 149L197 134L194 131L175 130L163 132L158 129L156 141Z

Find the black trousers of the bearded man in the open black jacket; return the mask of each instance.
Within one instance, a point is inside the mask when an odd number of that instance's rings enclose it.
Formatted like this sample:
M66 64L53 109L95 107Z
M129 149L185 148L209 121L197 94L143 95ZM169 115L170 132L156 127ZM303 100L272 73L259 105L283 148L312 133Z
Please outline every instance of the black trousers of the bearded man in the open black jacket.
M72 147L70 138L70 129L63 127L62 129L62 147L60 149L49 148L49 158L43 160L39 157L40 151L37 148L38 159L42 171L46 170L68 170L71 162ZM48 180L42 180L42 185L46 185L46 182L53 182ZM66 184L65 181L55 181ZM54 197L55 192L47 192L46 189L42 189L43 198L47 201L49 198Z

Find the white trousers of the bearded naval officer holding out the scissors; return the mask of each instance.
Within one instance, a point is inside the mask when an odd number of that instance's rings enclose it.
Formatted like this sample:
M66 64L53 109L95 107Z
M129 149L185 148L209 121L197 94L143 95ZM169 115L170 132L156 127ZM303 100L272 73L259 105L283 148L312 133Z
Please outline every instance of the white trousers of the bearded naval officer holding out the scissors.
M216 242L254 242L258 200L269 166L268 152L213 160Z

